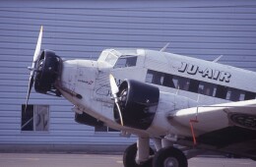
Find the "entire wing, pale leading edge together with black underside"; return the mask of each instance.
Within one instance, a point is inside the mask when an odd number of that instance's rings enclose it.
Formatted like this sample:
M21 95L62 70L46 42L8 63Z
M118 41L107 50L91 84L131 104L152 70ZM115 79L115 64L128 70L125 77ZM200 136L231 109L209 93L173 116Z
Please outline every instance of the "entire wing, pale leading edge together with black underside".
M256 100L178 110L168 116L176 134L231 152L255 156Z

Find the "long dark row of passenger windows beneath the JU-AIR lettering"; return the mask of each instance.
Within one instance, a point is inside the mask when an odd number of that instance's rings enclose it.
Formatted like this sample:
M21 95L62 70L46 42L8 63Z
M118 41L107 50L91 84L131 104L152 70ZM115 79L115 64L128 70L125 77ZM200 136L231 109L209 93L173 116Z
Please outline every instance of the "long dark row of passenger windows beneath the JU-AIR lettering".
M153 70L148 70L146 83L155 83L167 87L182 89L185 91L223 98L230 101L249 100L254 99L256 96L256 93L254 92L215 83L201 82Z

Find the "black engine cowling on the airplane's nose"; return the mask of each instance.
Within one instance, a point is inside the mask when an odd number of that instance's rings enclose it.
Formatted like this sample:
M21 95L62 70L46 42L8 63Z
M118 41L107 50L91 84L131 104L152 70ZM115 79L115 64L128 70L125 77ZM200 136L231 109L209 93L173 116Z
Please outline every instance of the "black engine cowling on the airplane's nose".
M36 73L34 78L34 89L39 93L54 92L60 95L55 88L55 81L61 69L61 58L53 51L44 50L36 63Z

